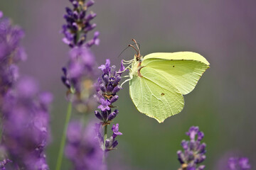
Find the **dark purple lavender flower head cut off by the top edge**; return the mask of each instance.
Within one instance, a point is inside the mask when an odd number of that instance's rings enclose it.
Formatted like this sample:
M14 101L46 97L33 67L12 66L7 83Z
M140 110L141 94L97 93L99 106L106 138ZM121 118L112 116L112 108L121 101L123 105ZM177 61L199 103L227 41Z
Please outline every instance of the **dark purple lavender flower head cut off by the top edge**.
M90 12L89 14L87 8L92 6L95 2L92 0L70 0L73 4L73 9L66 8L66 14L64 16L66 24L63 25L63 42L68 44L70 47L79 47L85 45L86 47L91 47L92 45L98 45L100 40L98 39L100 33L95 32L92 40L86 42L87 33L96 27L95 23L90 23L90 21L95 18L96 13Z

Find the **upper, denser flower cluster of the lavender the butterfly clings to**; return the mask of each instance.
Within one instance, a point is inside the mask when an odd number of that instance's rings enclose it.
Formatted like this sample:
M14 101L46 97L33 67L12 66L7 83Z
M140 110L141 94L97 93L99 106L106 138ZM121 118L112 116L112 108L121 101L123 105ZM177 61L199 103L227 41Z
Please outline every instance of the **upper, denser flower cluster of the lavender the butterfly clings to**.
M98 103L100 103L100 111L95 111L95 115L98 119L102 120L103 125L110 124L118 114L118 110L115 109L113 112L111 108L112 103L117 101L117 92L121 89L119 86L119 81L121 80L122 71L124 71L124 65L121 63L121 68L119 72L115 71L115 66L110 67L110 60L106 60L106 64L101 65L99 69L102 70L102 76L99 77L97 83L95 84Z

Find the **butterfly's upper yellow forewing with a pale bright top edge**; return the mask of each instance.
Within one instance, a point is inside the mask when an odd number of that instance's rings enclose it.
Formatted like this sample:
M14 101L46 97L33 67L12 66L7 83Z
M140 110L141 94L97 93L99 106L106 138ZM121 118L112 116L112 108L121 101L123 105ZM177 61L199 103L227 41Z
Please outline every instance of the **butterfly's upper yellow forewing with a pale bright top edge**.
M150 67L176 86L181 94L190 93L210 63L196 52L156 52L146 55L142 66Z

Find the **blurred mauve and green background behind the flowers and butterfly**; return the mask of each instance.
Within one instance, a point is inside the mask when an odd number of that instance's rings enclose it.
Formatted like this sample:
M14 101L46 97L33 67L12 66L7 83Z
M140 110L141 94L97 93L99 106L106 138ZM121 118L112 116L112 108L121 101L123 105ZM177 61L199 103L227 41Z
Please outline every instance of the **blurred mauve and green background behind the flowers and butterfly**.
M210 62L210 69L196 89L185 96L181 113L159 124L139 113L129 98L128 84L119 92L119 115L114 123L124 134L118 149L109 154L115 169L177 169L176 151L185 132L197 125L205 133L206 169L224 170L230 155L250 158L256 152L256 1L254 0L95 0L93 20L100 30L100 46L92 48L97 63L110 58L119 67L132 59L134 50L118 55L135 38L142 55L151 52L198 52ZM26 32L23 46L28 60L19 64L51 91L52 142L48 163L54 169L65 121L65 86L61 67L68 61L68 46L60 29L68 0L0 1L5 16ZM69 169L64 162L63 169Z

